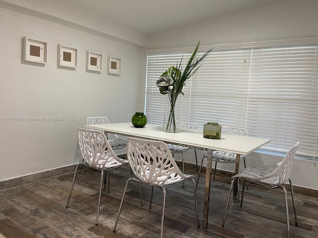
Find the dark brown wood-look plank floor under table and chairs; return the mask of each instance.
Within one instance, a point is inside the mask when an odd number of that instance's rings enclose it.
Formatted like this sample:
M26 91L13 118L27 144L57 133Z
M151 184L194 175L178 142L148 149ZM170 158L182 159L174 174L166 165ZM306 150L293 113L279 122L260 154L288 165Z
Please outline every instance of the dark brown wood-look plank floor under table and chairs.
M191 173L191 172L188 172ZM122 214L113 233L129 167L111 173L110 193L103 191L99 224L95 225L100 174L82 170L78 175L69 208L66 202L73 173L0 191L0 238L157 238L160 234L162 190L155 189L149 209L150 187L142 185L140 206L137 184L128 187ZM196 226L190 181L167 191L163 235L166 238L286 238L283 192L249 185L242 208L231 200L225 227L221 226L229 184L212 181L209 226ZM204 179L197 190L202 223ZM289 193L290 194L290 193ZM318 198L296 195L298 226L295 226L291 197L291 238L318 237ZM202 227L202 224L201 224Z

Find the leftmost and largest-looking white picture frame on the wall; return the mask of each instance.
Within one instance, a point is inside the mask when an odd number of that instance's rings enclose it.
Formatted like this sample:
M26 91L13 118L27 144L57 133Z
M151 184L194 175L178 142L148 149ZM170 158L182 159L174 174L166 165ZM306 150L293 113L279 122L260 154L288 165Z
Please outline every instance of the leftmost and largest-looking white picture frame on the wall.
M28 37L23 37L23 55L22 60L47 63L47 47L48 43L44 41L34 40Z

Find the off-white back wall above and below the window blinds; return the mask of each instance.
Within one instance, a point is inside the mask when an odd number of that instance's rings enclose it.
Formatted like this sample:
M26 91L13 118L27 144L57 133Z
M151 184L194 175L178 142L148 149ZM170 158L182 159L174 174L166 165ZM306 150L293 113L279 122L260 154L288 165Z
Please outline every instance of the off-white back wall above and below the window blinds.
M209 46L317 37L317 9L317 0L274 0L258 8L154 34L149 36L147 48L190 47L195 46L199 40L201 46ZM147 60L144 56L142 59ZM193 163L193 154L189 154L186 160ZM180 158L176 156L176 159ZM246 156L247 165L270 165L281 160L281 157L259 153ZM241 168L242 166L241 164ZM234 171L234 167L234 165L218 165L218 168L227 171ZM291 174L295 185L318 189L317 178L317 162L295 160Z

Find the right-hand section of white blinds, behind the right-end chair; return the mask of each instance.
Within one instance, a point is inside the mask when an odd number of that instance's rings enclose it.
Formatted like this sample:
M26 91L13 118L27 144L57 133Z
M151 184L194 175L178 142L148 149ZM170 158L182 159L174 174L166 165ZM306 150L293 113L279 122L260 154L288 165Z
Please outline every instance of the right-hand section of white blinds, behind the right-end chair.
M317 154L317 45L252 50L248 87L249 135L272 139L264 149Z

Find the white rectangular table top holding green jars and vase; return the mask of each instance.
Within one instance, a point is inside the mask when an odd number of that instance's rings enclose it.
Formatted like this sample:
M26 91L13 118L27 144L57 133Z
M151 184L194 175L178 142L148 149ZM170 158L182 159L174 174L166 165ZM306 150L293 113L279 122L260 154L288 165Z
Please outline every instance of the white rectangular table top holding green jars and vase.
M147 124L143 128L136 128L131 122L85 125L85 127L101 129L119 135L161 140L166 143L188 147L223 150L242 155L246 155L270 142L270 139L225 133L221 135L221 139L207 139L203 137L203 131L201 130L180 128L177 133L168 133L163 131L162 125Z

